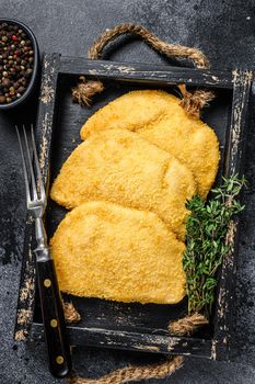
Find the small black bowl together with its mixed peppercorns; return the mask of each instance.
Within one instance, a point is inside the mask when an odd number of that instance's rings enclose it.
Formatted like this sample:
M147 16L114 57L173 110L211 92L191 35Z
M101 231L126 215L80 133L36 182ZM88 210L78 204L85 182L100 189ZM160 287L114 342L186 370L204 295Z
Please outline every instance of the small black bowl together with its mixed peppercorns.
M33 32L19 21L0 19L0 110L21 105L32 95L38 64Z

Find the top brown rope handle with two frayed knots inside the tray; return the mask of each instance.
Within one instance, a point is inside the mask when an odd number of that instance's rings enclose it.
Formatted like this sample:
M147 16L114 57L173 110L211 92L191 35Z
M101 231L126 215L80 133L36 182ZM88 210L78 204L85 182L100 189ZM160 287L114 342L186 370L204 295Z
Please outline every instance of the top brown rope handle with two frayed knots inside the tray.
M197 68L209 69L209 60L198 48L190 48L178 44L171 44L161 41L153 33L146 27L135 24L120 24L111 30L106 30L91 46L88 52L90 59L100 59L103 55L103 50L106 45L113 42L120 35L131 33L141 37L149 46L154 50L165 55L167 57L186 58L193 61ZM186 90L185 84L178 86L182 93L181 104L186 112L192 116L199 117L200 110L207 105L215 94L211 91L195 90L189 92ZM100 93L104 90L104 86L100 80L86 80L83 76L80 77L80 82L72 89L72 98L74 102L90 106L91 98L95 93Z

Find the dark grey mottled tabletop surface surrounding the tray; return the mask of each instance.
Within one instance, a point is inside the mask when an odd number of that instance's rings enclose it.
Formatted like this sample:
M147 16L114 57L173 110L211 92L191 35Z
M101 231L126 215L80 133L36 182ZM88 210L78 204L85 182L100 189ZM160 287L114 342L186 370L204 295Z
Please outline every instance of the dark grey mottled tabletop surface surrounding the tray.
M42 52L85 56L93 39L106 27L135 22L169 42L200 47L213 68L255 66L255 5L252 0L0 0L0 18L4 16L31 26ZM111 58L143 63L163 60L138 41L130 41ZM246 211L240 237L232 362L189 359L164 383L255 383L253 98L245 167L248 189L244 194ZM25 113L30 120L32 111ZM0 384L53 384L58 381L47 371L44 345L14 345L12 340L25 215L23 177L12 126L16 117L0 114ZM74 366L88 377L96 377L128 363L154 360L155 357L112 350L74 350Z

